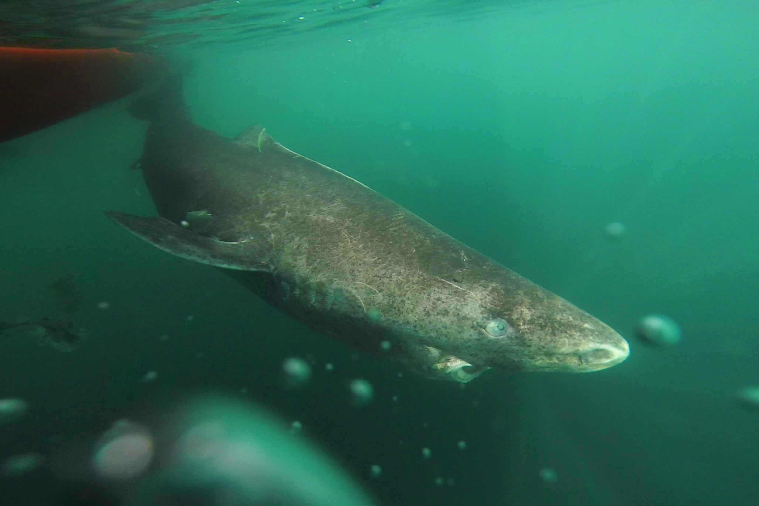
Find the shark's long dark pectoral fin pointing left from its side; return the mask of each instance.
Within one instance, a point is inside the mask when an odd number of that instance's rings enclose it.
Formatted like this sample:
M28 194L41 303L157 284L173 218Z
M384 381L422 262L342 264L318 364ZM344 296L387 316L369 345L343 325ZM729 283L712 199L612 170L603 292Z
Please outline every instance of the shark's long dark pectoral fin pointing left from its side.
M165 218L143 218L123 212L106 212L106 215L140 239L172 255L225 269L269 270L250 256L245 241L228 243L205 237Z

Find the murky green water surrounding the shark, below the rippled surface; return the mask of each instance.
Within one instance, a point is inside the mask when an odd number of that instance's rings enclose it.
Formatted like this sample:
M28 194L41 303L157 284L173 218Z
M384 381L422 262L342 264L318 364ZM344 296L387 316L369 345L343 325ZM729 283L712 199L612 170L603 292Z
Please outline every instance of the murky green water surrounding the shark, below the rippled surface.
M334 17L322 2L261 4L293 23L324 12L282 43L235 31L154 51L191 61L203 127L264 124L603 319L631 342L625 363L490 371L462 388L307 332L103 215L155 212L128 170L145 124L125 99L0 146L0 321L43 314L46 286L73 272L91 334L68 354L0 341L0 398L30 403L2 426L0 457L46 454L146 394L211 385L300 421L383 504L754 504L759 413L734 395L759 384L759 6L468 3ZM610 222L626 226L619 240ZM650 313L679 322L682 341L635 338ZM306 391L279 381L295 355L314 364ZM348 401L355 377L374 388L363 409ZM0 481L2 504L51 504L46 473Z

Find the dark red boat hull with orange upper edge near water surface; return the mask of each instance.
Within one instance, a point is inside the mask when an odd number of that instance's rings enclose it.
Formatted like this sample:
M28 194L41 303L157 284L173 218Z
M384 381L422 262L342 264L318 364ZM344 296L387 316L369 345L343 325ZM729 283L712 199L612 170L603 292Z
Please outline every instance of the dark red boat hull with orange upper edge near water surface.
M120 99L159 77L148 55L0 47L0 143Z

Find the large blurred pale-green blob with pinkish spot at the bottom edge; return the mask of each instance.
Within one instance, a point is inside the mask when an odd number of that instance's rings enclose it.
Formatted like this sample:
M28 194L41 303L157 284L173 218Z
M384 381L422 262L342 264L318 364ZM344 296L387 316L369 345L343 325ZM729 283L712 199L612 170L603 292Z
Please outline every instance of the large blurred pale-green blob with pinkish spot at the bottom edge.
M155 405L58 462L65 482L59 504L375 504L329 457L260 407L209 394Z

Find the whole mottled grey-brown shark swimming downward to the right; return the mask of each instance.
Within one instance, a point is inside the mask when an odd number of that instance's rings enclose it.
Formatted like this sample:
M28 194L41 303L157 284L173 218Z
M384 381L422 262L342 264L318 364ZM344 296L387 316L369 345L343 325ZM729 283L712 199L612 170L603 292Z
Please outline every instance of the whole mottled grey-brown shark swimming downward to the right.
M150 121L140 166L159 217L109 217L314 331L458 382L490 368L597 371L628 356L594 316L260 125L231 140L194 124L178 77L131 112Z

